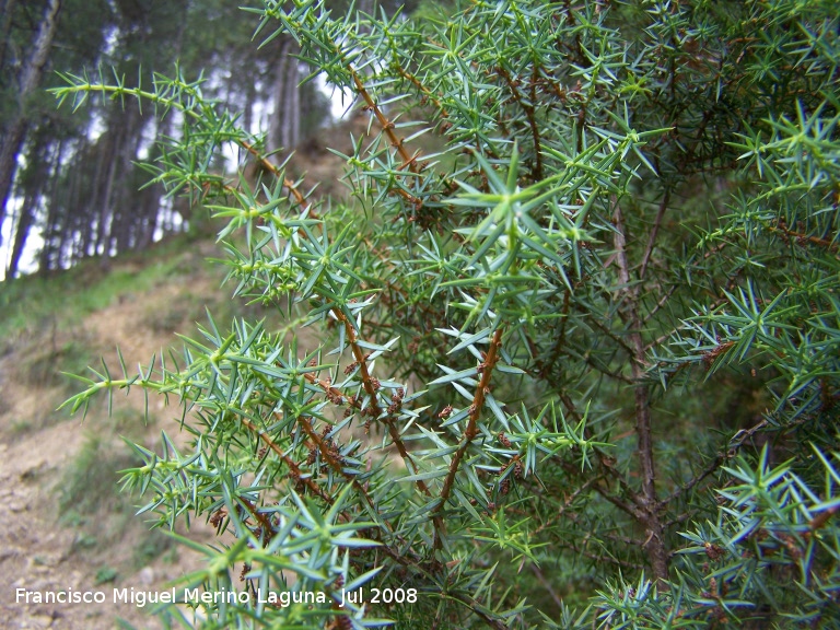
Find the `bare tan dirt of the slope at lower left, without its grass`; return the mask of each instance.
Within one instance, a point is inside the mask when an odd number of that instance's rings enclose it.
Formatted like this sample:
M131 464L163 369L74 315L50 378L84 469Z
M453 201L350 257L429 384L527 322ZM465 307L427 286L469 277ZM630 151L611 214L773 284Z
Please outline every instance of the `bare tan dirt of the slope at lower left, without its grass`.
M195 281L189 288L192 293L218 291L208 281L206 287ZM173 283L130 295L93 313L72 334L59 334L58 342L67 342L68 335L82 336L94 340L95 349L112 366L117 365L117 346L128 365L148 364L153 353L176 341L171 334L148 325L148 305L164 307L177 301L182 291L183 287ZM20 376L21 354L31 348L24 345L0 359L0 628L98 630L114 628L118 618L137 628L156 628L156 619L142 609L115 604L113 590L165 590L170 581L197 569L199 560L190 550L175 547L138 565L133 551L148 536L148 525L139 517L120 518L107 504L97 514L88 515L92 516L88 523L68 521L60 509L62 485L85 443L100 440L105 451L121 448L128 453L128 448L119 443L114 421L102 406L92 407L83 425L81 413L71 417L66 409L56 411L77 385L39 386ZM130 419L118 430L129 431L149 447L159 442L161 429L178 439L177 424L172 420L176 408L164 409L153 399L151 407L159 420L145 428L141 421L142 395L132 393L128 399L121 398L115 397L115 409L122 409L121 417ZM129 423L130 428L125 425ZM115 475L113 483L116 481ZM103 486L108 488L110 480ZM133 499L135 504L139 501ZM213 537L202 523L195 525L192 537ZM25 600L26 592L62 591L102 592L105 602L36 604L33 595Z

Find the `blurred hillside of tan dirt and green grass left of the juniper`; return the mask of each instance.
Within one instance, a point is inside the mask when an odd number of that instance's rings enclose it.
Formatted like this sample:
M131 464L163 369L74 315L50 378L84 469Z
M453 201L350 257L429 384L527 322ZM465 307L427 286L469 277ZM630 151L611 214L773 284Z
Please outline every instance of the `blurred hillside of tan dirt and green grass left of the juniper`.
M196 559L133 516L138 497L120 494L117 470L136 464L122 436L155 447L165 430L178 439L177 408L143 397L103 398L70 416L56 410L79 384L60 371L82 373L103 357L117 366L148 364L179 347L174 330L206 320L205 307L230 319L223 270L206 262L211 242L174 241L142 256L93 261L47 280L0 285L0 618L7 628L113 628L122 617L155 627L142 609L114 604L113 590L160 591ZM183 439L183 436L180 438ZM196 524L202 536L209 527ZM28 591L30 602L25 600ZM105 593L102 604L36 604L35 592Z

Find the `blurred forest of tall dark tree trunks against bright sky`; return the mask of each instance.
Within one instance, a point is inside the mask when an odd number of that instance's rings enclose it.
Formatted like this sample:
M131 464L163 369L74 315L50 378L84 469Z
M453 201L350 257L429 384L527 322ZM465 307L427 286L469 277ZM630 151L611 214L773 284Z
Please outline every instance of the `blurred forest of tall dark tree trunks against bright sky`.
M195 219L188 199L149 183L156 140L179 137L180 117L118 100L58 108L47 90L62 84L60 74L100 72L151 90L155 73L172 74L177 65L186 79L203 78L206 98L243 113L243 127L261 132L269 152L296 147L324 122L329 98L314 82L300 85L306 67L294 57L294 40L277 37L257 47L257 19L238 4L2 0L0 278L65 269L90 256L107 260ZM331 4L342 12L349 2ZM359 7L372 11L374 2Z

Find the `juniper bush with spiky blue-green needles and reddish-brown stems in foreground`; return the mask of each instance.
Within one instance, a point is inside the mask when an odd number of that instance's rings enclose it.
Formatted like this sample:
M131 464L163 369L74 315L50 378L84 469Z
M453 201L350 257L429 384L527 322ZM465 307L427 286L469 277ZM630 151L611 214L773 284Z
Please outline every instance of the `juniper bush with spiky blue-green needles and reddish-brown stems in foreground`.
M838 625L836 3L253 11L369 113L353 203L287 178L200 82L58 91L179 110L156 179L210 198L236 294L320 331L210 318L182 358L68 401L182 400L190 450L137 446L124 483L161 525L235 538L190 542L208 563L189 585L327 594L164 615ZM226 143L260 180L207 172ZM340 609L348 584L417 597Z

